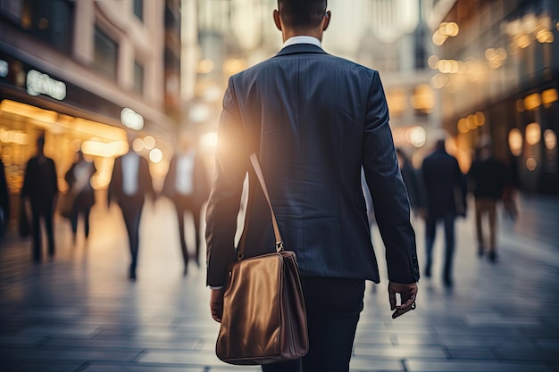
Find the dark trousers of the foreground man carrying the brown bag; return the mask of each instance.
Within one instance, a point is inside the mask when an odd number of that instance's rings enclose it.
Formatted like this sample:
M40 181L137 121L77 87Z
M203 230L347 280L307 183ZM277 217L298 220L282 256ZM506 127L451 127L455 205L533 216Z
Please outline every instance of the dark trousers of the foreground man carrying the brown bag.
M263 365L263 372L347 372L363 310L361 279L301 277L309 352L301 360Z

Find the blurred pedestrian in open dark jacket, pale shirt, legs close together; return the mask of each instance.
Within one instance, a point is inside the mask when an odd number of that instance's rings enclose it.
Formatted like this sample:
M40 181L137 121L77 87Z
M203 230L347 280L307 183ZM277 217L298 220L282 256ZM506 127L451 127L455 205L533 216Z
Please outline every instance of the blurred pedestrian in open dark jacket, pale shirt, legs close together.
M132 148L135 136L129 133L129 151L114 160L113 176L109 184L108 203L121 207L122 218L129 237L129 278L136 280L138 266L139 225L146 195L155 201L154 186L146 159Z

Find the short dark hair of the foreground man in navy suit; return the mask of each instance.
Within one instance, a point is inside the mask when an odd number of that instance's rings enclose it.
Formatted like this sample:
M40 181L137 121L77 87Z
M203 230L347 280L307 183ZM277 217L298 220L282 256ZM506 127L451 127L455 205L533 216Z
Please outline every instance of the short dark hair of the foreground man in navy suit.
M278 0L281 20L291 28L318 26L326 12L327 0Z

